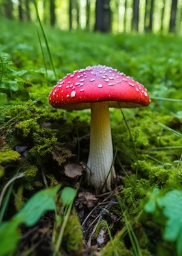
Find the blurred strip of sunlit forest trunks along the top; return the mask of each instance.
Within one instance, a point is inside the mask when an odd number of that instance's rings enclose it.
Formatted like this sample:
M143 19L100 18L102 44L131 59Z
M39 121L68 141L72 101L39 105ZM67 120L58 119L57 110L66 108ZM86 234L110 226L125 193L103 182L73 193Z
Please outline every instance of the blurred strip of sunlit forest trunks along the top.
M0 14L14 20L36 20L34 1L1 0ZM60 29L101 32L182 31L181 0L39 0L44 24Z

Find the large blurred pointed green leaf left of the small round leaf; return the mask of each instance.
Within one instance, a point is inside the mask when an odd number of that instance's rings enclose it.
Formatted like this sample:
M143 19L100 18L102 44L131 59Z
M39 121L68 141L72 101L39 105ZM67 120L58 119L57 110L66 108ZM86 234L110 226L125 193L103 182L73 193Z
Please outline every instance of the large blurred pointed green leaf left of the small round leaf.
M57 185L51 189L39 191L28 200L17 216L21 216L21 219L23 219L22 222L25 223L25 225L34 225L44 212L55 210L55 197L59 188L60 185Z

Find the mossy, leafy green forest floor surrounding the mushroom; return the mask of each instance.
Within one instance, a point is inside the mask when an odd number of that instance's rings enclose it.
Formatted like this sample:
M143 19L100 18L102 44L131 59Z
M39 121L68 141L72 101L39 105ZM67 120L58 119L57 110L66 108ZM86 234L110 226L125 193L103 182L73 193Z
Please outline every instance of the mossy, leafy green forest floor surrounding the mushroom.
M0 255L182 255L182 38L45 27L45 40L0 22ZM96 195L83 167L90 111L54 109L48 95L98 64L144 84L151 104L110 109L117 175Z

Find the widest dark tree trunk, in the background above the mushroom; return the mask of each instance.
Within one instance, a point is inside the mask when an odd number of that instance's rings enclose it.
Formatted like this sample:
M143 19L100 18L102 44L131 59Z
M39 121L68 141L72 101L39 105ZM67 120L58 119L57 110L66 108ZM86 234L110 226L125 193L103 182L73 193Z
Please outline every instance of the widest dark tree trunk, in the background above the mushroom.
M95 31L109 32L111 27L110 0L96 0Z

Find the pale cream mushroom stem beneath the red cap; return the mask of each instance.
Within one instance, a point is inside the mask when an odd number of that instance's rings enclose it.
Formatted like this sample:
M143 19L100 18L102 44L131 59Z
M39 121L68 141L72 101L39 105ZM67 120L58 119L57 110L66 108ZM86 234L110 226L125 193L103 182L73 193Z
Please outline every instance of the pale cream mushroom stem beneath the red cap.
M109 103L91 104L90 152L86 177L96 192L110 190L115 177L114 167L109 170L113 161L112 137L110 131ZM108 176L109 175L109 176ZM107 179L107 181L106 181Z

